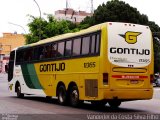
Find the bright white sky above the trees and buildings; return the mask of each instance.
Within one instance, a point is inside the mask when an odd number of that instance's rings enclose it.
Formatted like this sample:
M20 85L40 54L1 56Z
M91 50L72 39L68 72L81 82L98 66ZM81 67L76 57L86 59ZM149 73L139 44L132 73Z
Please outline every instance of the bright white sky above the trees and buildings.
M90 12L91 0L68 0L68 6L75 10L84 10ZM102 3L110 0L93 0L94 9ZM141 14L146 14L150 21L154 21L160 26L160 0L121 0L130 6L137 8ZM38 3L42 17L47 14L54 14L56 10L66 7L66 0L36 0ZM27 24L33 15L40 16L39 9L34 0L0 0L0 36L2 33L19 34L29 33ZM14 25L16 24L16 25ZM19 25L19 26L17 26Z

